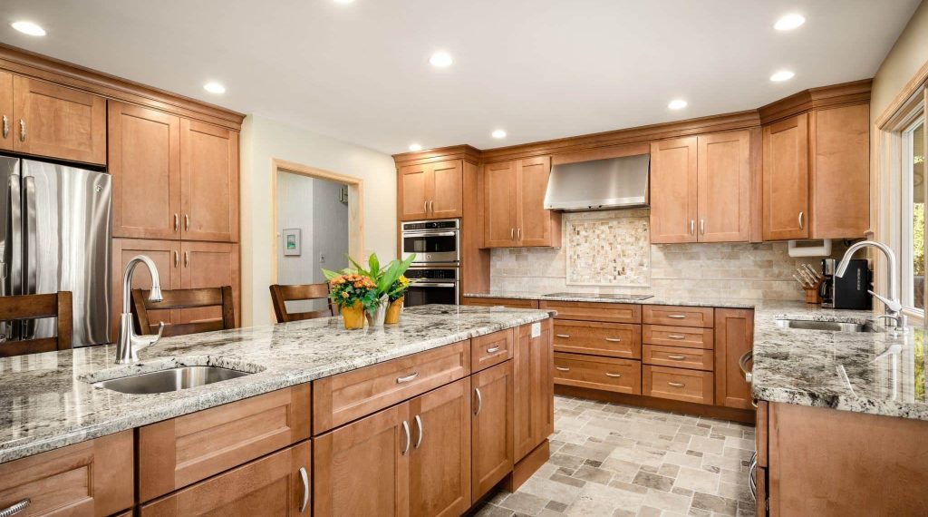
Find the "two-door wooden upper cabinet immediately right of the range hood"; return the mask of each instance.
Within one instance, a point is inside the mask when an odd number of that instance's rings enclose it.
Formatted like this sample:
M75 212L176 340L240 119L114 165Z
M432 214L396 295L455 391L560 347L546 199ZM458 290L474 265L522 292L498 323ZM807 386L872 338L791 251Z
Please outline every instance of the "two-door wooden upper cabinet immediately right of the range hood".
M745 130L651 144L651 242L750 239L750 142Z

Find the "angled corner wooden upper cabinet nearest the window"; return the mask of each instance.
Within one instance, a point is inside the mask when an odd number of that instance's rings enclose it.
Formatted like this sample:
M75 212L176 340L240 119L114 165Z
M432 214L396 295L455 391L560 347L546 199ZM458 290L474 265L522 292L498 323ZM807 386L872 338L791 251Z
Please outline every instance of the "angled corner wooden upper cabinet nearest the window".
M870 105L764 126L764 240L863 237L870 227Z

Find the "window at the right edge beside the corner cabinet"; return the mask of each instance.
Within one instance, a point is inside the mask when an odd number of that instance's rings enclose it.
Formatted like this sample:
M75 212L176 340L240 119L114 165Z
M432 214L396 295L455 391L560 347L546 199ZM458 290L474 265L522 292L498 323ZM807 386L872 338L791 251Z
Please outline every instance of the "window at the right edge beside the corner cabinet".
M925 123L902 132L902 303L924 310Z

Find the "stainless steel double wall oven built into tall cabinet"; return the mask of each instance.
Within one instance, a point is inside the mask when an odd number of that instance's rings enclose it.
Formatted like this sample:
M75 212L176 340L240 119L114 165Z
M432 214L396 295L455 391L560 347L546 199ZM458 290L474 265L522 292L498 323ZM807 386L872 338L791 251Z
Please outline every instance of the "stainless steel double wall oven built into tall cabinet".
M458 304L460 219L403 223L402 255L416 259L406 271L406 306Z

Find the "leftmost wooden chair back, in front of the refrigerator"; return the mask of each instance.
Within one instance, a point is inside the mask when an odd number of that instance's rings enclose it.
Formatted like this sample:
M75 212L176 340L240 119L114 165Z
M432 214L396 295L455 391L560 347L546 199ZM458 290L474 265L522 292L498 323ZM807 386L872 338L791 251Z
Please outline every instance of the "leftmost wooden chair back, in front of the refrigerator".
M74 319L71 316L70 291L0 297L0 321L15 322L33 317L57 317L58 335L53 338L0 343L0 357L54 352L71 348Z

